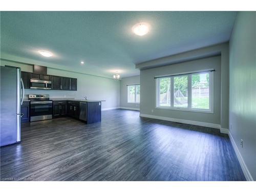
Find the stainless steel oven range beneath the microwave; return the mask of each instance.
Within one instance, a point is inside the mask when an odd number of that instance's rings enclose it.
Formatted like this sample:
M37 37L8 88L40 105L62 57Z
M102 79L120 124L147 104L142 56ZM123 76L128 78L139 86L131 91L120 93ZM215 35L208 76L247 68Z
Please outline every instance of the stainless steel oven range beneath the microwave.
M49 95L29 95L30 121L52 119L52 100Z

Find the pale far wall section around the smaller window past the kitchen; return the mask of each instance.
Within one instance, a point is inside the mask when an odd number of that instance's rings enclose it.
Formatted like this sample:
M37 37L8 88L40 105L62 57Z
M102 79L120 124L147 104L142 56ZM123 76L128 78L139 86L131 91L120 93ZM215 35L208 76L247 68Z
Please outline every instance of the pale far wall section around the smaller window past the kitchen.
M120 85L120 107L121 108L133 108L140 109L140 103L128 103L127 102L127 84L139 84L140 76L125 77L121 80Z

